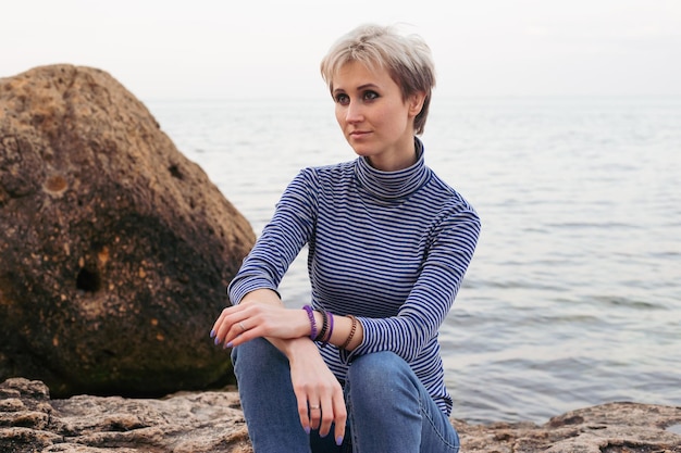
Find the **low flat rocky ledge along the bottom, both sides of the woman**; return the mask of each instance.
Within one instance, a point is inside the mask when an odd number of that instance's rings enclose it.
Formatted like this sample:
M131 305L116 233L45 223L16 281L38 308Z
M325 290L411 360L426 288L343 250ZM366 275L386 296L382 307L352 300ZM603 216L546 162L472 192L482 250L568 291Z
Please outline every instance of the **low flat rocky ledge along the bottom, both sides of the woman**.
M466 453L681 452L681 407L611 403L542 426L451 421ZM234 391L51 400L42 382L21 378L0 385L0 451L252 453Z

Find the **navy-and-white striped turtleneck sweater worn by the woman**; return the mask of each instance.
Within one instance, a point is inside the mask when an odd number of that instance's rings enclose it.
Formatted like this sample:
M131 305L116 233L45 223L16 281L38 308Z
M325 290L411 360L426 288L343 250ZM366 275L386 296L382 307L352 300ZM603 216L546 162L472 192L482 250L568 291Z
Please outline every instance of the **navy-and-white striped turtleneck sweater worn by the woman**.
M425 165L414 140L417 162L401 171L377 171L364 158L300 171L228 294L236 304L255 289L276 291L307 244L311 305L355 315L363 327L351 352L320 347L334 375L343 382L354 357L392 351L449 416L437 331L473 255L480 218Z

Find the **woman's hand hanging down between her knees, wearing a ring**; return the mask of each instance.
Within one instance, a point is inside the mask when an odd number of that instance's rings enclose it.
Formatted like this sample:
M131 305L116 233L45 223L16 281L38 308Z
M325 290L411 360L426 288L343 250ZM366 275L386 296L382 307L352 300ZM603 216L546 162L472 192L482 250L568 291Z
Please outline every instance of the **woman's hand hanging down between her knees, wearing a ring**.
M326 437L331 424L335 423L334 439L339 445L345 435L347 410L338 379L309 339L287 342L285 354L290 364L300 424L307 432L319 429L319 435Z

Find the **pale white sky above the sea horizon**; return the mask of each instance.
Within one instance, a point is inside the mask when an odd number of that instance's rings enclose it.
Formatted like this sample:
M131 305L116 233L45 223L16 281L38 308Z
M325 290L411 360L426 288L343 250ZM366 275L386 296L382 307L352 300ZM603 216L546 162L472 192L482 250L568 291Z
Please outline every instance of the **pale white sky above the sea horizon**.
M437 96L681 96L681 0L12 0L0 77L71 63L143 101L327 96L355 26L425 38Z

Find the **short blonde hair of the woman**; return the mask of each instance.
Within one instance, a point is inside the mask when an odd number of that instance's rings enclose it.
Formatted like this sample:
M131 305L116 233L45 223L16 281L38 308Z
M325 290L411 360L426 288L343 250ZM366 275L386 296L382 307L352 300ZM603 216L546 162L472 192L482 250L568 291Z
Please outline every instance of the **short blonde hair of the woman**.
M413 121L416 134L423 134L431 95L435 87L435 66L431 49L418 35L404 35L395 26L361 25L338 39L321 63L322 78L333 92L333 78L340 67L359 62L371 70L385 68L407 100L425 93L423 109Z

